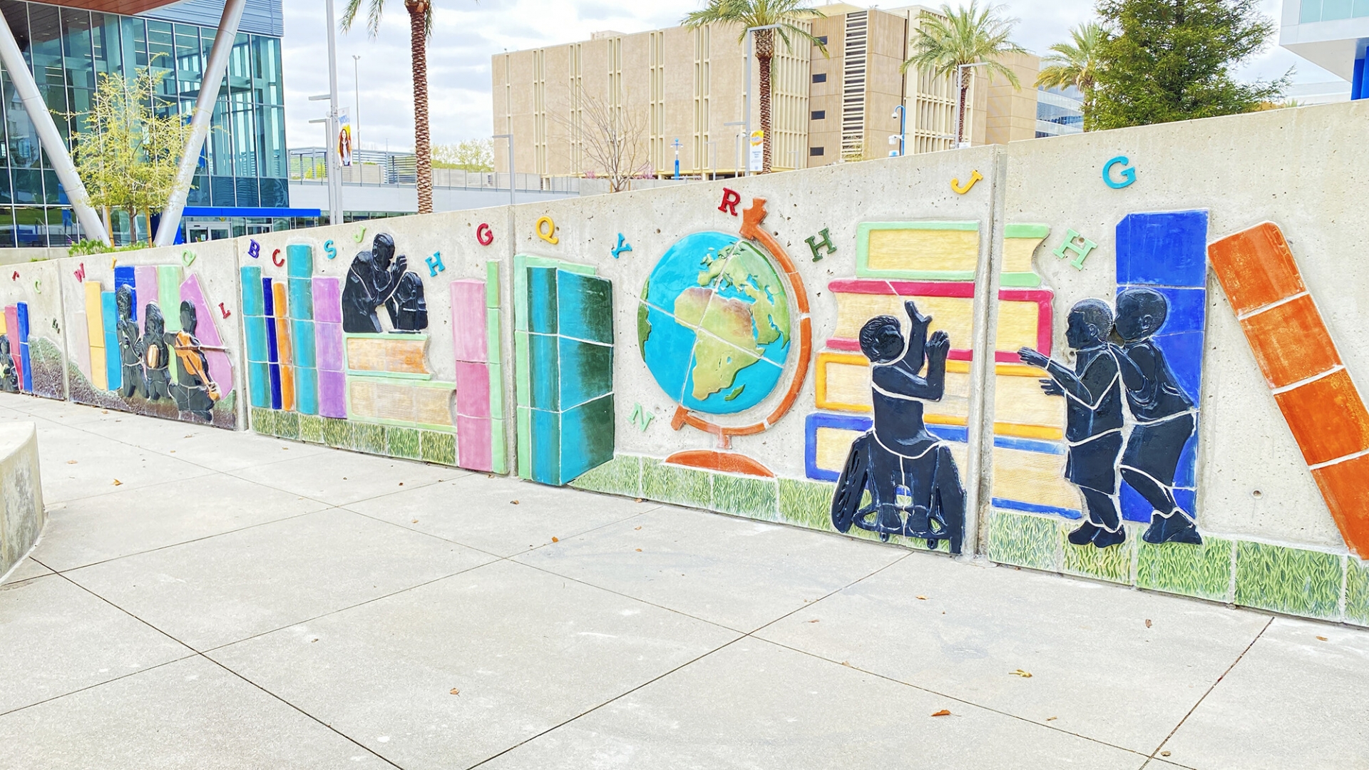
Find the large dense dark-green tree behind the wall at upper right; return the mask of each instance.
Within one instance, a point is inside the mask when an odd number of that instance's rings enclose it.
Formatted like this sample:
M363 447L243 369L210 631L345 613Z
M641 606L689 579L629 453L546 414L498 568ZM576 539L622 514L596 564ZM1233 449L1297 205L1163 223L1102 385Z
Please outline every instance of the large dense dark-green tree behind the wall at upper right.
M1099 52L1098 129L1249 112L1277 101L1292 73L1231 75L1275 33L1258 0L1099 0L1098 15L1112 33Z

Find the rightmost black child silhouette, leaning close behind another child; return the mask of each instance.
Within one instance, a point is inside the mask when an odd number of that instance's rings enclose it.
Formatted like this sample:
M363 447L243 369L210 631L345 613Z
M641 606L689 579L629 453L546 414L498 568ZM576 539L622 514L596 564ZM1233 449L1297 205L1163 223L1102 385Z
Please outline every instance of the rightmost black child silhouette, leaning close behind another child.
M1121 477L1154 510L1142 534L1146 543L1201 544L1192 517L1175 500L1175 471L1197 417L1192 399L1153 340L1168 315L1169 300L1154 289L1124 289L1117 295L1123 382L1136 421L1121 455Z

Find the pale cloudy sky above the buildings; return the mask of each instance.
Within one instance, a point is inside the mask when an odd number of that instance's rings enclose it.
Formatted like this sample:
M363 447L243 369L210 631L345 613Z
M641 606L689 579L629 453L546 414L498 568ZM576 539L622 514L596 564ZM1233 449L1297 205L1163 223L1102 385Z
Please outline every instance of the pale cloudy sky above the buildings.
M371 0L361 0L370 4ZM308 101L327 93L327 38L319 0L285 3L285 97L286 133L292 148L323 141L320 125L311 118L326 112L326 101ZM341 16L346 0L335 0ZM853 3L862 4L862 3ZM883 3L895 8L906 3ZM645 32L678 25L702 5L701 0L435 0L433 38L428 42L428 103L433 141L456 142L491 133L490 56L589 40L591 32ZM1280 0L1261 0L1264 11L1279 15ZM880 7L875 4L873 7ZM1068 36L1069 27L1092 18L1092 0L1006 0L1008 12L1020 19L1014 37L1042 53ZM413 148L413 92L409 70L408 15L402 0L387 0L379 34L370 37L357 19L348 33L338 33L338 96L349 108L360 96L357 136L367 149ZM353 60L353 56L360 56ZM1279 47L1254 58L1240 75L1279 77L1296 67L1295 82L1324 82L1333 75ZM360 77L353 77L353 71ZM356 112L356 110L352 110Z

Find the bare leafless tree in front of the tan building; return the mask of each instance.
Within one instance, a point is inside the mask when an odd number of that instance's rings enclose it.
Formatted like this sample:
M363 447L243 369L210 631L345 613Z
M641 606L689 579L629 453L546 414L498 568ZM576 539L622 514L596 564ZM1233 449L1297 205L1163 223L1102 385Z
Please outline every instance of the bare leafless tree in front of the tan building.
M548 116L565 127L568 141L579 141L582 163L586 166L579 171L587 177L606 178L609 192L623 192L630 179L641 175L643 169L650 170L642 141L646 136L646 116L594 96L578 96L579 104L574 110L578 119L571 116L571 110Z

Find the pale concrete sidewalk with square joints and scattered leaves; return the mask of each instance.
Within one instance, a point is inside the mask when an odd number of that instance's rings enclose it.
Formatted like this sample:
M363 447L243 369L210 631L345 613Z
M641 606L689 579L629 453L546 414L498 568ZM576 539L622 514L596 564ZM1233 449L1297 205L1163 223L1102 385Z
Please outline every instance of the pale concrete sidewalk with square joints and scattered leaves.
M0 588L4 769L1369 767L1369 632L0 397L15 419L51 522Z

